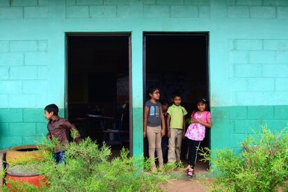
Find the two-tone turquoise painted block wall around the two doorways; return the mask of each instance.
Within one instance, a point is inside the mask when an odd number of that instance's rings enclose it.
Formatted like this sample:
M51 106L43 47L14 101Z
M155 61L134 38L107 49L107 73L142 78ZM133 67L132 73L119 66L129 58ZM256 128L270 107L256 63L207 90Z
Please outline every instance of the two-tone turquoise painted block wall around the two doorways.
M0 0L0 148L65 109L65 33L131 32L134 154L143 152L143 32L209 32L212 150L288 122L287 0Z

